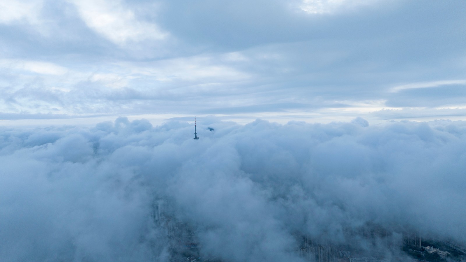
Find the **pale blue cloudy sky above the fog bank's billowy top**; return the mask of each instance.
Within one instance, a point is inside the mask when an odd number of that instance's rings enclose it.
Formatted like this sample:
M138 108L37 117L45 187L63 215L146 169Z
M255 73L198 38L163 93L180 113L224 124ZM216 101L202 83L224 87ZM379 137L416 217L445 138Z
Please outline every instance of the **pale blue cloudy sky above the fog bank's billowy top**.
M0 2L1 125L462 120L463 0Z

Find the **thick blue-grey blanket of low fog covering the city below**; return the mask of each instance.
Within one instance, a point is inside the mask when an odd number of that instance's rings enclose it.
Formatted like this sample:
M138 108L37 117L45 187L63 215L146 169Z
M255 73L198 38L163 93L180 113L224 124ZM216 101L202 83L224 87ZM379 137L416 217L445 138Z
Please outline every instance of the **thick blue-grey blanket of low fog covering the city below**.
M303 261L301 235L386 254L405 232L466 242L466 122L203 117L197 131L0 127L1 261L169 261L154 203L222 261ZM364 240L367 225L395 245Z

